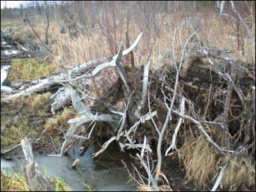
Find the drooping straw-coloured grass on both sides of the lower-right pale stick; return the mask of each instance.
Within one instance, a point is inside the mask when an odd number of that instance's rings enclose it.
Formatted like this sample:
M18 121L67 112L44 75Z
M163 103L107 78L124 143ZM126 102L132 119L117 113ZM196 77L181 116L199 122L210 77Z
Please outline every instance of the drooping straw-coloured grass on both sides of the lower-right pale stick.
M204 136L200 136L196 141L186 140L180 152L186 168L186 179L195 181L199 189L214 184L221 164L228 163L221 180L223 189L255 190L255 160L252 161L248 157L234 159L218 156Z

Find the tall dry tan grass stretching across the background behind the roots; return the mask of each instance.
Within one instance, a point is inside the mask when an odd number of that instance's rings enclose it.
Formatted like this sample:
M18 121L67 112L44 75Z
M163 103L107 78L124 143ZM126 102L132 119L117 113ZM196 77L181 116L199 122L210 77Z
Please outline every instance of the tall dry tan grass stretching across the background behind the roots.
M246 40L245 38L244 53L242 51L237 51L237 39L234 38L236 37L234 23L223 20L223 18L219 17L213 10L196 12L194 18L188 17L188 15L189 13L184 14L184 10L176 12L175 15L157 13L156 29L158 31L152 31L150 26L148 28L145 27L145 23L143 23L145 21L143 20L131 20L129 24L130 44L132 44L135 38L141 33L141 29L143 29L143 38L141 39L138 47L136 47L136 51L134 51L135 65L140 66L145 64L151 48L152 54L150 58L152 59L153 65L157 64L161 66L172 62L172 54L170 54L169 60L160 60L164 54L166 54L166 52L172 49L173 31L182 22L184 23L180 35L182 44L186 42L186 38L193 33L194 29L196 29L198 26L202 26L202 29L197 33L196 38L194 38L190 47L197 47L195 49L196 51L198 51L198 49L202 46L205 47L205 49L234 51L234 53L230 54L230 57L236 57L244 63L255 64L255 42ZM119 16L119 18L124 17L124 15ZM109 14L107 17L109 20L113 19L111 14ZM118 20L116 20L116 22L119 22L120 24L116 25L115 30L113 27L111 27L111 25L108 27L108 29L100 29L99 26L96 26L93 29L88 29L86 35L79 33L77 37L72 38L70 35L68 35L68 33L61 34L58 25L51 22L49 27L49 40L52 45L54 44L54 55L62 56L67 62L67 65L72 66L94 60L96 58L101 58L102 56L109 56L111 55L110 47L112 47L111 49L113 49L114 54L116 54L120 41L125 43L126 29L125 22L120 22ZM35 26L36 33L38 33L40 38L44 41L45 22L35 22L33 26ZM144 27L141 28L141 26ZM241 28L242 35L246 36L243 27ZM110 34L108 34L109 37L107 36L108 30L110 31ZM104 31L104 33L102 31ZM255 35L255 31L252 31L252 33ZM39 40L35 34L33 34L33 31L28 24L26 24L24 28L17 31L14 38L24 41L28 36L40 44ZM175 54L177 54L179 58L178 53L180 52L181 48L179 42L179 33L176 35L174 48ZM195 50L188 49L186 54L189 54L190 51Z

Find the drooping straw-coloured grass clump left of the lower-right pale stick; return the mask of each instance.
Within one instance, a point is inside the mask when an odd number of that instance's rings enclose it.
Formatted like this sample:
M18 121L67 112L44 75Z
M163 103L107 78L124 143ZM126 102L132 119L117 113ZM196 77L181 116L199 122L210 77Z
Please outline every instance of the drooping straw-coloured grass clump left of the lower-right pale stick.
M218 166L216 164L218 156L209 147L204 136L200 136L196 141L187 139L180 152L188 180L195 180L199 188L205 188L212 182Z

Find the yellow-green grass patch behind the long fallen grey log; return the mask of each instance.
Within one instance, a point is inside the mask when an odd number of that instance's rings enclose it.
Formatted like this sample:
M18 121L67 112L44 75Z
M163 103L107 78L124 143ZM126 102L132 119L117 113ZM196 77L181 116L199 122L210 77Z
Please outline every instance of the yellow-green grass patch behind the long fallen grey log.
M19 79L35 80L51 75L54 68L49 64L41 64L33 60L13 60L9 69L10 81Z

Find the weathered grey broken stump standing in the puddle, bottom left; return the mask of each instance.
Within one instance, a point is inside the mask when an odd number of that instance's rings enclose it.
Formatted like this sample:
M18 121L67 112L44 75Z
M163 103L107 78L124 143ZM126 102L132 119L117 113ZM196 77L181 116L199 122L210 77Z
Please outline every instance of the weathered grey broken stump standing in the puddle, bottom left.
M54 186L50 180L39 170L28 138L21 140L20 144L26 159L25 172L30 191L54 191Z

